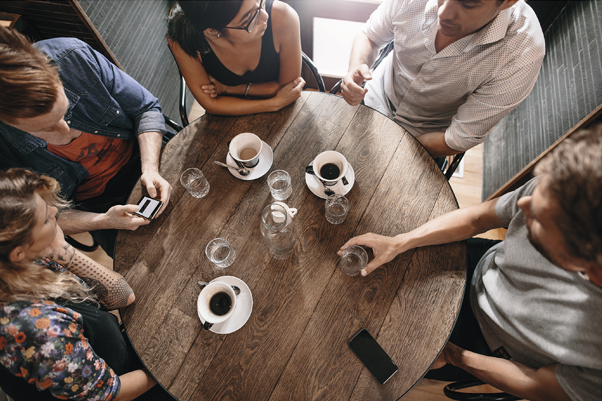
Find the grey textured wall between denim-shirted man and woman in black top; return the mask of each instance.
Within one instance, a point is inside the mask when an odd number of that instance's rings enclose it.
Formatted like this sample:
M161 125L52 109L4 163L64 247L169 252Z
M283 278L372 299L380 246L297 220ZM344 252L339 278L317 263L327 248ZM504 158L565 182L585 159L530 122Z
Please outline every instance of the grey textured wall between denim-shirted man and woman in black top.
M171 0L79 0L125 72L159 99L163 113L181 123L178 67L165 40ZM188 95L188 108L193 98Z

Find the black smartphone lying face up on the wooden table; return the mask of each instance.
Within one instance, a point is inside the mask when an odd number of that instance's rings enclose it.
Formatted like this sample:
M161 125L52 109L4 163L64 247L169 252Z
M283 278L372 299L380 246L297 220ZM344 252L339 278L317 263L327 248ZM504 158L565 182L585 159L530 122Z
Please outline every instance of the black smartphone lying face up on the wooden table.
M374 379L385 384L397 371L397 365L366 329L349 340L349 347L368 368Z

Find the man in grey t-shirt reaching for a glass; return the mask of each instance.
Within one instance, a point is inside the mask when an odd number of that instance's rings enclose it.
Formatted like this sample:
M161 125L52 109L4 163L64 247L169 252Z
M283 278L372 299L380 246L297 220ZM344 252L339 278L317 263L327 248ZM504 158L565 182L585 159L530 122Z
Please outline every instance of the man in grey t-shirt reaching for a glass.
M368 233L341 247L373 248L365 276L414 247L508 228L503 242L468 239L470 300L427 378L472 375L532 401L601 399L600 155L597 125L563 141L512 193L396 237Z

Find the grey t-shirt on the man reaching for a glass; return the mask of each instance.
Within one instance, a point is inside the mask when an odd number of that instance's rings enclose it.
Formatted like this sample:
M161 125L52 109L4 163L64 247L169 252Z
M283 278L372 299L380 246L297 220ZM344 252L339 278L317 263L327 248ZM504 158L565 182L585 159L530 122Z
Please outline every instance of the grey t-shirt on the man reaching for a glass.
M556 379L572 400L602 398L602 288L551 264L527 239L517 201L532 179L495 206L506 240L479 261L471 283L474 316L491 350L539 368L557 363Z

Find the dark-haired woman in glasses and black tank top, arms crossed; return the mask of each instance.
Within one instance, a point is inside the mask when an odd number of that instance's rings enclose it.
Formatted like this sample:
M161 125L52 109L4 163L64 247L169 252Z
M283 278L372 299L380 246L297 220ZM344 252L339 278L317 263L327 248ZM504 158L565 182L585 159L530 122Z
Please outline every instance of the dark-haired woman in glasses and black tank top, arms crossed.
M209 113L276 111L301 96L299 17L284 2L176 2L166 37L188 88Z

